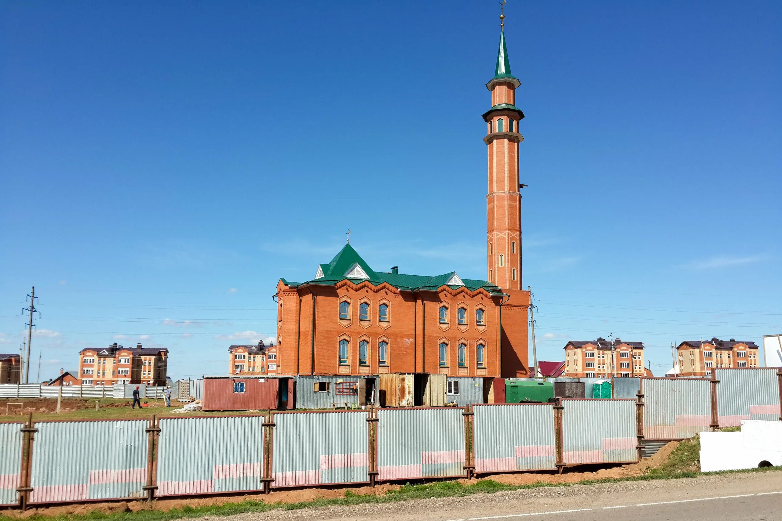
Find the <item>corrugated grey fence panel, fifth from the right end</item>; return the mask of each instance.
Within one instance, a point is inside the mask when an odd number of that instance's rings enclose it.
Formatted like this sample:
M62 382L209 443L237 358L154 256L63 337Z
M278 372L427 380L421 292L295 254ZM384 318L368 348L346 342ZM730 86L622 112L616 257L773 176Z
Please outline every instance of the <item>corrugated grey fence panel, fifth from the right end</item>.
M378 411L378 480L465 476L462 409Z

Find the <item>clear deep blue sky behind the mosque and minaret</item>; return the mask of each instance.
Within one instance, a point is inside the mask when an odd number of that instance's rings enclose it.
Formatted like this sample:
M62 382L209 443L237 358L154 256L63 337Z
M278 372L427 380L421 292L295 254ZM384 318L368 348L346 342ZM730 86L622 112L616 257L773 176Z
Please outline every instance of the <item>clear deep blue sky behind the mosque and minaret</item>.
M0 351L225 373L279 277L486 277L496 2L0 2ZM779 2L508 2L523 278L569 339L782 333ZM666 366L667 364L667 366ZM33 369L36 365L33 366Z

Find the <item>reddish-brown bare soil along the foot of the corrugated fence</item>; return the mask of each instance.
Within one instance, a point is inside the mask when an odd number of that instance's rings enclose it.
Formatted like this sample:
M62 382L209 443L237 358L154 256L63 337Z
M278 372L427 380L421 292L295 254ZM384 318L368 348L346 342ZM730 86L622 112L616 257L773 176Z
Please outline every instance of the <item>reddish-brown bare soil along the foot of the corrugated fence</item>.
M661 465L668 459L671 451L679 444L672 441L666 444L651 458L642 459L638 463L615 466L608 469L596 469L594 471L579 472L565 469L562 474L557 473L509 473L479 476L472 479L458 480L461 484L474 484L480 479L495 480L502 484L528 485L536 483L561 484L577 483L583 480L600 480L604 478L621 478L640 476L649 469ZM314 501L316 499L345 498L346 494L378 495L382 496L389 491L399 490L400 484L378 484L376 487L343 487L343 488L303 488L282 491L272 491L271 494L231 494L224 496L212 496L203 498L159 498L152 503L148 501L116 501L106 503L86 503L78 505L52 506L39 509L28 509L26 512L7 510L5 516L24 518L40 514L42 516L62 516L69 514L87 514L89 512L138 512L140 510L170 510L183 507L199 507L208 505L225 505L242 501L264 501L267 503L299 503L302 501Z

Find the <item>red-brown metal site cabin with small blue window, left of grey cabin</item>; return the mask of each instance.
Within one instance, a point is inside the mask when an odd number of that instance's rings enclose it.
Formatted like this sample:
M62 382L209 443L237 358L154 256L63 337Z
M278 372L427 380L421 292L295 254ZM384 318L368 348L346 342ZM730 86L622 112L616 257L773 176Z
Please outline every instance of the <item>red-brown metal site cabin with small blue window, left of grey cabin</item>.
M294 382L292 376L206 376L203 379L203 410L293 409Z

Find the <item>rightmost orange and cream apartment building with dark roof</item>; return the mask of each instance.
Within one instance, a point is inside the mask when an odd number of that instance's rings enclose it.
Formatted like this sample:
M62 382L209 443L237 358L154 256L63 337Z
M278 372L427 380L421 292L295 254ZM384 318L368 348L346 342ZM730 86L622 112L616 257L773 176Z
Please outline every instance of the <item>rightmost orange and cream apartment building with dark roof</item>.
M680 376L712 376L720 367L760 367L759 345L752 341L686 340L676 346Z

